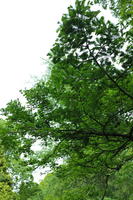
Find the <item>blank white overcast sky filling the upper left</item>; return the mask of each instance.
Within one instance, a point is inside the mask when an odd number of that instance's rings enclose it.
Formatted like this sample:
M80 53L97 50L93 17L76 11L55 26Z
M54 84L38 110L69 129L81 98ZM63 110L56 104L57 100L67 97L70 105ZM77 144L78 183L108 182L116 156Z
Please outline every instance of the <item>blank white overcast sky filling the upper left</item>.
M74 0L0 0L0 107L46 70L57 22Z

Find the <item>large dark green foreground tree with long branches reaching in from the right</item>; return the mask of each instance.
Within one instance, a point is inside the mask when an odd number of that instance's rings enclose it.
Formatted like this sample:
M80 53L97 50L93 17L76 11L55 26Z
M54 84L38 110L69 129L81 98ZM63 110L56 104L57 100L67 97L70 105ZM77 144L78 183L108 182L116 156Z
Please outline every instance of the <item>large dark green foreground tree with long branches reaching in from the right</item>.
M58 167L63 158L102 173L104 199L108 177L133 159L133 51L131 26L105 22L99 13L85 0L68 8L49 53L48 81L23 91L26 106L15 100L3 111L24 153L35 139L53 143L30 165Z

